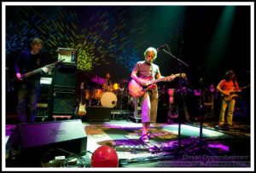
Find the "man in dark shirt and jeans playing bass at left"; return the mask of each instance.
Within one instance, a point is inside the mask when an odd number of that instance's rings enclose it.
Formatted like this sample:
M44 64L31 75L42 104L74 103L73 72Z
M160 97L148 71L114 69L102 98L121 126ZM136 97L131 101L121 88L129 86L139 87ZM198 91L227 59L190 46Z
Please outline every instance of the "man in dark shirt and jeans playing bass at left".
M45 65L44 59L39 54L43 46L43 40L38 37L34 38L31 43L31 49L23 50L15 62L16 78L20 81L18 88L17 123L33 123L35 120L41 72L27 78L22 77L22 74ZM42 71L49 72L49 68L44 66Z

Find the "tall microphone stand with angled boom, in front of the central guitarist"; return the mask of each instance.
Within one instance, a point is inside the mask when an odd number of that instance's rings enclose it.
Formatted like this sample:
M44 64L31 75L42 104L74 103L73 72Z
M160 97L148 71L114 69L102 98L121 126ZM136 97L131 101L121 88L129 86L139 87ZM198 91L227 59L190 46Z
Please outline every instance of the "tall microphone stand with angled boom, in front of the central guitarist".
M186 64L184 61L181 61L180 59L178 59L175 55L172 55L171 51L168 52L166 51L166 49L162 49L164 52L166 52L166 54L170 55L173 59L175 59L178 63L178 68L179 68L179 77L182 76L182 65L183 66L189 66L188 64ZM180 92L180 96L183 96L183 89L182 89L182 84L181 84L181 79L178 78L178 86L179 86L179 92ZM181 150L181 114L182 114L182 98L179 98L178 101L178 151Z

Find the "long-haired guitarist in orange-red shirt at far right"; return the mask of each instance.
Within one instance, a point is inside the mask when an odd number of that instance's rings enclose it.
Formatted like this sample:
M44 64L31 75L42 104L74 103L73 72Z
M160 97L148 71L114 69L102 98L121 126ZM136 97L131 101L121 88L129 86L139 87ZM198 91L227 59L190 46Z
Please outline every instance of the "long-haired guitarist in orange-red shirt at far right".
M236 104L236 92L241 91L236 81L236 74L233 71L228 71L225 78L220 81L217 86L218 91L222 94L221 110L218 118L218 126L223 126L225 122L225 111L227 110L226 124L231 126L233 120L233 113Z

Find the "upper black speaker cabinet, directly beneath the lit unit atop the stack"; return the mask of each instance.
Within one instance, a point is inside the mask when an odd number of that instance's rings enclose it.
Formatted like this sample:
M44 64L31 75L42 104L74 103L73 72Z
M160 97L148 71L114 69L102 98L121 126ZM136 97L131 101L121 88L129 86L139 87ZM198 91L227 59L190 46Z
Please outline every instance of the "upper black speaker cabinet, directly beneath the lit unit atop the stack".
M55 69L54 87L75 88L76 84L76 66L63 65Z

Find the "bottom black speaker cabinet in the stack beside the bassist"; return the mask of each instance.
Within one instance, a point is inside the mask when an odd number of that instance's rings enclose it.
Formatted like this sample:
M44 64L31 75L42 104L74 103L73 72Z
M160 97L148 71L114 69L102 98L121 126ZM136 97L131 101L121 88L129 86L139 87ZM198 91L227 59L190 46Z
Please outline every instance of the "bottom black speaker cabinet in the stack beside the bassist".
M74 90L54 89L52 114L73 115Z

